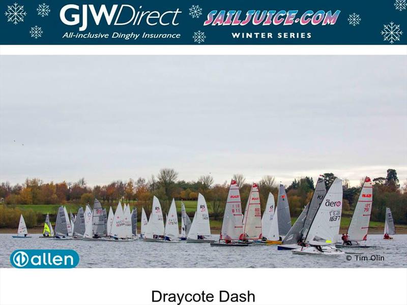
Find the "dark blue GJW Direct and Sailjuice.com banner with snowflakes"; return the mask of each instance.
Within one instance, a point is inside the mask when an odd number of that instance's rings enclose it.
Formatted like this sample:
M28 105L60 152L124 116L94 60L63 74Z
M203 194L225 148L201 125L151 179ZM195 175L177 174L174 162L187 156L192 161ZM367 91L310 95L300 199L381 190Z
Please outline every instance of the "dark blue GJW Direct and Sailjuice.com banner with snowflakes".
M405 44L406 0L2 2L1 44Z

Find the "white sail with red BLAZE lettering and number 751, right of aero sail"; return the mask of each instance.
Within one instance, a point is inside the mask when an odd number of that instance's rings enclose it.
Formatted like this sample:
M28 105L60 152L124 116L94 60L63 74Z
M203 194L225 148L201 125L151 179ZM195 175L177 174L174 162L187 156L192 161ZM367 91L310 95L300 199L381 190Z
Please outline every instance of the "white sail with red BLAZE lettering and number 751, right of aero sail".
M369 177L365 178L362 190L356 203L351 224L347 229L348 239L352 241L362 241L367 239L370 214L373 202L373 187Z

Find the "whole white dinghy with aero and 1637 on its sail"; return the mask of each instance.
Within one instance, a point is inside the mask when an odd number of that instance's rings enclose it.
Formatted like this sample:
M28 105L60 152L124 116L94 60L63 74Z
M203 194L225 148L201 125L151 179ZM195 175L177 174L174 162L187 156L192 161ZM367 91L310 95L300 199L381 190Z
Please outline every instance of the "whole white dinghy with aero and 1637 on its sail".
M301 248L293 254L342 255L335 248L342 214L342 180L335 178L305 235Z

